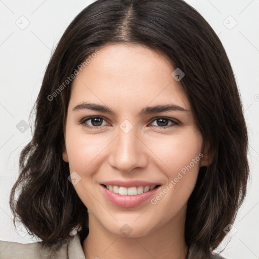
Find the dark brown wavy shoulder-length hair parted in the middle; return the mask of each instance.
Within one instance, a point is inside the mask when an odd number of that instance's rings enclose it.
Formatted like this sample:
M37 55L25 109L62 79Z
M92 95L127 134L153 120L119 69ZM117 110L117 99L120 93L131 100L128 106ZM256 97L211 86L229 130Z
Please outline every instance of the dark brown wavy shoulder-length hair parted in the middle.
M234 73L219 37L182 0L98 0L73 19L47 66L35 102L32 140L20 154L20 175L10 195L14 224L18 217L45 247L58 246L77 226L81 242L89 234L88 209L68 181L69 164L62 159L72 81L52 100L50 96L107 43L148 47L185 73L179 83L213 158L200 168L188 200L185 241L188 256L212 258L246 195L247 128Z

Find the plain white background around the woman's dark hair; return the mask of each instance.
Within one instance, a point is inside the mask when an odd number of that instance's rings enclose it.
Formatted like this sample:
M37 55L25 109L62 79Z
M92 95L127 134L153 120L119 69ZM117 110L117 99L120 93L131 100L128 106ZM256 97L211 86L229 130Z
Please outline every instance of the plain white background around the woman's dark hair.
M0 1L0 240L20 243L39 240L30 239L22 230L17 232L12 225L9 194L18 177L19 153L31 139L30 128L22 133L16 125L21 120L33 123L34 117L29 121L29 113L50 56L72 19L92 2ZM223 42L238 82L249 130L248 194L234 228L221 245L227 244L222 255L229 259L259 258L259 1L187 2L209 22ZM26 22L29 25L24 29L17 25L24 26Z

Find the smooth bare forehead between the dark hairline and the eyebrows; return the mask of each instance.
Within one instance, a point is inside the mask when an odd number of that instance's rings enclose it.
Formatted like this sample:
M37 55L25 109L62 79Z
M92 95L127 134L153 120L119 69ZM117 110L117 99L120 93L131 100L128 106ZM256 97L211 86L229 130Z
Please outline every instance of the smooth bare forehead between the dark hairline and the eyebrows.
M98 50L73 80L71 105L94 100L114 107L162 102L190 108L180 83L171 76L174 66L162 53L131 44L107 44Z

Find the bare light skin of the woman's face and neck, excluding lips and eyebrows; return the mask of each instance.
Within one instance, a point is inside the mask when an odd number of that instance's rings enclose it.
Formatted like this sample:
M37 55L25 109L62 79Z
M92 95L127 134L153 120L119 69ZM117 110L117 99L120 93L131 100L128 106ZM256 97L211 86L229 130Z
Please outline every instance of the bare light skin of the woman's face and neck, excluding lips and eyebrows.
M106 44L100 54L75 77L65 127L63 160L70 173L81 177L74 188L89 210L90 233L83 242L87 258L186 258L184 223L187 201L199 167L208 164L202 136L194 123L187 97L171 73L175 70L161 53L141 45ZM73 108L82 102L105 105L115 112ZM175 104L187 111L140 115L147 106ZM102 116L98 123L85 121ZM155 117L169 117L179 124ZM133 128L125 133L127 119ZM167 124L166 124L167 123ZM88 128L86 125L101 125ZM162 126L166 126L162 128ZM136 207L110 203L100 191L108 180L143 180L168 186L192 159L203 154L156 204ZM158 193L156 193L158 195ZM124 236L127 224L132 232Z

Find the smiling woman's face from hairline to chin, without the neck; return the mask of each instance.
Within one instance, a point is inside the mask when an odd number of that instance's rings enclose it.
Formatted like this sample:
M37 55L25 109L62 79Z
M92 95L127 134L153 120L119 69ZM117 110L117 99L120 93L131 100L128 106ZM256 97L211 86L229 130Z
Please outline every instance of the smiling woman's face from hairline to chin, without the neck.
M166 57L140 45L99 51L73 80L63 160L90 222L117 236L127 224L143 236L185 215L205 159L202 137ZM109 181L118 194L103 186Z

